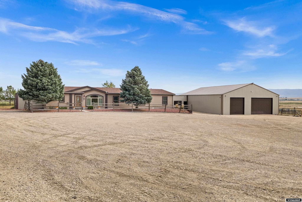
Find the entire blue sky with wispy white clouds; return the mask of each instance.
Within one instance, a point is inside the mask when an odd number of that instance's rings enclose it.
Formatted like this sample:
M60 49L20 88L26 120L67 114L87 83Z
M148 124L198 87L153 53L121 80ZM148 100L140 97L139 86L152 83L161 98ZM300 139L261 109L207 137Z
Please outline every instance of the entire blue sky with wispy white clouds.
M66 86L119 87L139 66L173 93L254 82L302 88L301 1L0 0L0 86L32 61Z

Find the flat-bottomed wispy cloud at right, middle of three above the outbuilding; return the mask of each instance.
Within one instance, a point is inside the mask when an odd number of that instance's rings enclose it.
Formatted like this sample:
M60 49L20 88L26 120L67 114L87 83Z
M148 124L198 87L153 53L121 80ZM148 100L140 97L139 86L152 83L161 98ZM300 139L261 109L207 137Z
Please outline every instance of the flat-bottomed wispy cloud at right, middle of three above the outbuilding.
M280 57L286 53L278 53L278 47L276 45L268 45L263 48L258 48L252 51L246 51L243 55L251 56L252 58L265 58L265 57Z

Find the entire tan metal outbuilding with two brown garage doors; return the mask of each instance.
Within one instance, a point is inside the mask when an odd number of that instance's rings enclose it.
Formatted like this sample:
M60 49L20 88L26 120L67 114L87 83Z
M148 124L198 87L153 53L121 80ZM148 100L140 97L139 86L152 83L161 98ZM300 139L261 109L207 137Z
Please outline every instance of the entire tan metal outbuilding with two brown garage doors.
M279 95L254 83L198 88L173 97L211 114L278 114Z

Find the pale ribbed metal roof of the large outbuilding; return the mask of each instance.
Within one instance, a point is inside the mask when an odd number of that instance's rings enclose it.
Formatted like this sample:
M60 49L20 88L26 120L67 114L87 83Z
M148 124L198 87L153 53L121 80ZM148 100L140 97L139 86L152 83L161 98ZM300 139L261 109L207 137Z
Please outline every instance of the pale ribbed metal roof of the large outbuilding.
M230 91L234 91L238 88L242 88L247 85L250 84L203 87L203 88L197 88L193 91L189 91L180 95L221 95L221 94L228 93Z

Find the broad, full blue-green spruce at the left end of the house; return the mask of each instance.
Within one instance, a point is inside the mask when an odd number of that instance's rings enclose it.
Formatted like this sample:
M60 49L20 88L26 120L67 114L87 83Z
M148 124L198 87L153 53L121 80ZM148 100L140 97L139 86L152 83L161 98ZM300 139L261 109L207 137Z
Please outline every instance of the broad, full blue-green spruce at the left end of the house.
M62 100L64 85L52 63L38 60L26 68L27 75L21 75L24 90L19 90L23 100L35 100L38 103Z

